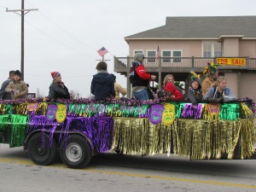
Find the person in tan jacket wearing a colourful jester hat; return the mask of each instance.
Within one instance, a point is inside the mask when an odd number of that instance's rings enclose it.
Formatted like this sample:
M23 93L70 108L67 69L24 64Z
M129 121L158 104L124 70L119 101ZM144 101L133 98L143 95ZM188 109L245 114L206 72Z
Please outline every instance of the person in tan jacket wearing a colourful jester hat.
M207 67L205 67L205 71L203 72L203 75L207 78L203 80L201 84L202 88L202 95L205 96L207 94L207 91L215 85L215 81L218 78L218 64L210 64L207 63Z

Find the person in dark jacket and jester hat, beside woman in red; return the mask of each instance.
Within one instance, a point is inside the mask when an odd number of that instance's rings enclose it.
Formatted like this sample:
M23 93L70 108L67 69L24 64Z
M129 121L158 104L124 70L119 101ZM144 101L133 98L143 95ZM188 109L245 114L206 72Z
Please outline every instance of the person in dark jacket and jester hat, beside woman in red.
M200 75L195 72L191 73L191 85L189 87L188 96L185 100L192 102L192 106L197 108L197 102L202 100Z

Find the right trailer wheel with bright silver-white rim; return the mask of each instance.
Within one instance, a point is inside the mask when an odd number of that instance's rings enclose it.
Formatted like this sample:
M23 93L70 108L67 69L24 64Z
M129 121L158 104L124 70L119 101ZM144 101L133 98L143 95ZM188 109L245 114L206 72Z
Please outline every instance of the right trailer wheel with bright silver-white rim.
M74 169L84 168L90 163L90 143L79 135L70 135L68 140L61 143L61 160L63 163Z

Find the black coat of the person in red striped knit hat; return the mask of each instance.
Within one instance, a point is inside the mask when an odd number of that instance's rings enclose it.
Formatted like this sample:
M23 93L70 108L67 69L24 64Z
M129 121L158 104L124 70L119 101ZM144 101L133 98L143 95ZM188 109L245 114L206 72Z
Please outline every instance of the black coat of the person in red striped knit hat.
M49 85L49 95L47 96L47 98L49 101L52 99L70 99L70 95L67 90L67 87L65 86L65 84L63 84L63 82L57 83L53 81Z

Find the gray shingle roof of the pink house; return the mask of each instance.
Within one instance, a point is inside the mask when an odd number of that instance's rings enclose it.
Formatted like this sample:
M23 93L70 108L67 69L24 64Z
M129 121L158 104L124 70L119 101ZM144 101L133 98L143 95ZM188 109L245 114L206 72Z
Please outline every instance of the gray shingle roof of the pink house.
M166 26L125 37L130 39L219 38L221 35L243 35L256 38L256 15L166 17Z

